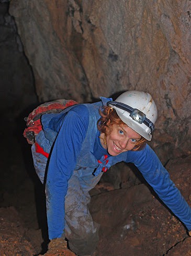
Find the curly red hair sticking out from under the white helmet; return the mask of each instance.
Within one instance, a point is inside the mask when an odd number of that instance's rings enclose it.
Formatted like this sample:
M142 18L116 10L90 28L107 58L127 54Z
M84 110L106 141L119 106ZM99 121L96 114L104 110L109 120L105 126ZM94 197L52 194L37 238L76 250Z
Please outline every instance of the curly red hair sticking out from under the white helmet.
M112 126L114 124L119 125L119 126L124 126L126 125L117 115L117 112L115 109L104 106L99 109L99 114L101 118L97 122L97 128L100 132L103 132L105 135L110 134L112 130ZM137 151L141 150L145 147L146 144L146 139L141 137L141 139L136 143L132 151Z

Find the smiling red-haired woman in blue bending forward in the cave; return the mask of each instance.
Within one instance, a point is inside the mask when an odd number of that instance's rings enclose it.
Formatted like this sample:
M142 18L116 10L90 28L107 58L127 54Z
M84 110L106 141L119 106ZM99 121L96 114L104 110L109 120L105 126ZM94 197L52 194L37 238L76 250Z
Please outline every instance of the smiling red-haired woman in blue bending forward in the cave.
M42 116L43 130L32 145L32 156L42 183L48 167L46 198L51 241L45 255L54 250L66 253L65 238L75 254L93 255L98 224L87 207L88 191L110 166L121 161L134 163L166 206L191 230L190 207L145 142L151 140L157 118L151 95L126 91L116 101L100 99ZM48 165L43 151L51 152Z

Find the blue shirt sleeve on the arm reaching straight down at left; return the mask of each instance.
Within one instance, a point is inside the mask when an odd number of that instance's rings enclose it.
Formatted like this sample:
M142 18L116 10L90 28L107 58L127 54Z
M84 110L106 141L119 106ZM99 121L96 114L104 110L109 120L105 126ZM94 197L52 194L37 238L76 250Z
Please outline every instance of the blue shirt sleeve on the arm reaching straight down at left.
M64 233L64 197L86 136L88 120L85 106L74 107L62 120L53 145L46 181L49 239L60 238Z

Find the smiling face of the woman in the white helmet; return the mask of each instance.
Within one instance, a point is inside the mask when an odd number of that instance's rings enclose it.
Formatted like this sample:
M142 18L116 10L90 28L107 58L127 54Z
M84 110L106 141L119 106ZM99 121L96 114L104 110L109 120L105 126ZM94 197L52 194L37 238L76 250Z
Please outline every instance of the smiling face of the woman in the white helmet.
M122 152L132 150L140 139L141 135L127 125L114 124L106 137L107 151L109 155L117 156ZM101 143L103 145L103 141ZM103 147L106 148L105 145Z

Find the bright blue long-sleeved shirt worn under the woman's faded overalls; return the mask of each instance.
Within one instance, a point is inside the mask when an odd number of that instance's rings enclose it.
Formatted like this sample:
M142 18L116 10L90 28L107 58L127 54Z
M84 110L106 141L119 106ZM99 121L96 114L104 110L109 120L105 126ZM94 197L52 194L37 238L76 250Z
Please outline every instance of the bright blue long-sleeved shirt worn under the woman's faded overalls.
M89 112L84 105L73 107L68 114L52 118L50 128L58 132L51 152L47 175L47 218L49 238L59 238L64 230L64 197L68 180L76 166L89 122ZM99 159L107 153L100 145L99 132L95 136L94 156ZM163 202L191 229L191 211L179 190L171 181L154 151L147 145L141 151L125 152L125 162L132 162L158 193Z

